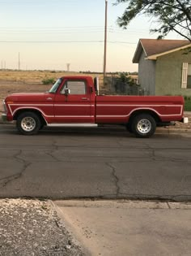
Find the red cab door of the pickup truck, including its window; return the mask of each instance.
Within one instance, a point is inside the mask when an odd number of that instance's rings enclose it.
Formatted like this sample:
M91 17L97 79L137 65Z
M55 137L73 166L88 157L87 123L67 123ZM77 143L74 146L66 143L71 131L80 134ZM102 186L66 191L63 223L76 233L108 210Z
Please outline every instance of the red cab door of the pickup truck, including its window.
M86 80L64 80L54 102L55 123L94 123L94 102Z

